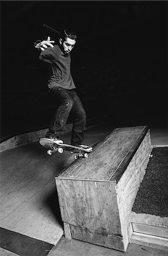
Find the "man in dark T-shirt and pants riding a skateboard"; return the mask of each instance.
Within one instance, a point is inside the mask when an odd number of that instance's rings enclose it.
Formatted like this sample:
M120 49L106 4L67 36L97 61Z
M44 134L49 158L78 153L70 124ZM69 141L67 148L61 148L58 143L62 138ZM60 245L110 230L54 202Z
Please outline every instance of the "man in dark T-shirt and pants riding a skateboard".
M57 131L64 128L69 114L72 113L74 120L71 144L90 148L82 145L86 129L86 113L81 100L75 92L76 87L70 73L70 52L76 42L77 36L75 33L64 30L58 44L53 45L54 41L49 36L47 40L34 43L35 48L41 51L39 59L49 63L49 94L56 104L59 102L46 138L58 139Z

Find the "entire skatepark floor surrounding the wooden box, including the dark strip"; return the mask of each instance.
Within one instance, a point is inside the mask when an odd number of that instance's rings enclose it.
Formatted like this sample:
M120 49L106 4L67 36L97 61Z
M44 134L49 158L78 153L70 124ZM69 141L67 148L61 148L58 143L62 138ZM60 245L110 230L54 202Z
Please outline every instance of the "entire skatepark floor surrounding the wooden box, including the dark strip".
M93 146L116 127L110 122L89 127L84 143ZM149 128L152 145L168 145L167 127ZM69 143L70 133L62 139ZM133 244L122 253L62 236L54 176L73 160L69 152L48 156L39 142L1 153L0 255L167 255L165 251Z

